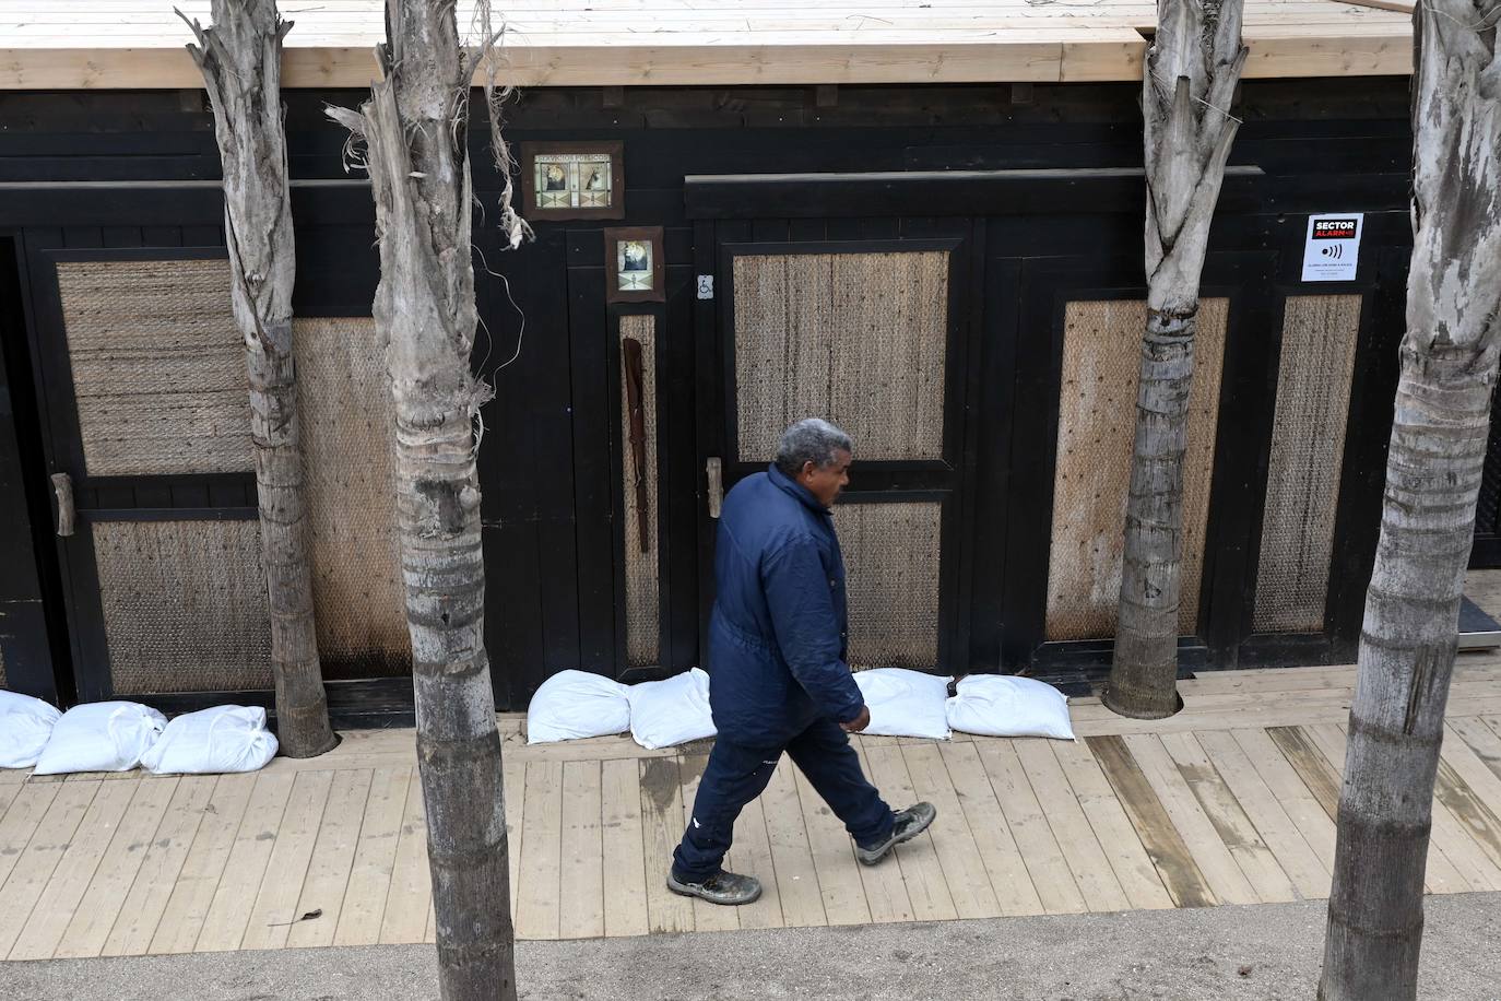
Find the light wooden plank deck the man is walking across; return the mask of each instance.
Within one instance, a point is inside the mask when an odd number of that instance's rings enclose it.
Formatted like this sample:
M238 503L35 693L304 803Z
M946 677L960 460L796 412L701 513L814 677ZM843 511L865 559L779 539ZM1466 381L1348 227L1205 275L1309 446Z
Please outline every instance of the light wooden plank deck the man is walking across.
M958 920L1322 897L1354 668L1183 684L1186 708L1073 705L1079 743L866 737L893 804L938 822L875 869L784 759L729 864L766 896L672 896L665 866L707 747L506 740L521 938ZM1501 657L1450 698L1432 893L1501 890ZM411 731L359 731L249 776L0 773L0 956L12 960L432 941ZM303 914L317 917L299 921Z

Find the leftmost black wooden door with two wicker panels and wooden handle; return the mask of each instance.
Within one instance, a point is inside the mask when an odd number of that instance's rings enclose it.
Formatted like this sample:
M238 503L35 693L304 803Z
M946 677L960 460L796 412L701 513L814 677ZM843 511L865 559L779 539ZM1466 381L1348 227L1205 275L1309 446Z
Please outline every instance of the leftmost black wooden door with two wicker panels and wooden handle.
M264 701L269 614L225 252L57 237L33 231L27 257L59 528L63 509L75 521L57 543L77 695Z

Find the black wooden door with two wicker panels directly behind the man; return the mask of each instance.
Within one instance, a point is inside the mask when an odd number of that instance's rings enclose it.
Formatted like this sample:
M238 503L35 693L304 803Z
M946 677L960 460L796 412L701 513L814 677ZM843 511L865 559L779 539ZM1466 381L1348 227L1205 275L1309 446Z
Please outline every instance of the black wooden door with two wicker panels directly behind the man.
M968 219L699 225L701 614L719 498L790 423L826 417L856 443L835 509L851 663L967 662L973 240Z

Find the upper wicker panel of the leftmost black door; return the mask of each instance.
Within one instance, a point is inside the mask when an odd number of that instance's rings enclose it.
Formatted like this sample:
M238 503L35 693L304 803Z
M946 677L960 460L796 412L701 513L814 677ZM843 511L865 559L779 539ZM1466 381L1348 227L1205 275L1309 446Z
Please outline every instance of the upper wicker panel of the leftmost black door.
M225 261L57 266L89 476L252 468Z

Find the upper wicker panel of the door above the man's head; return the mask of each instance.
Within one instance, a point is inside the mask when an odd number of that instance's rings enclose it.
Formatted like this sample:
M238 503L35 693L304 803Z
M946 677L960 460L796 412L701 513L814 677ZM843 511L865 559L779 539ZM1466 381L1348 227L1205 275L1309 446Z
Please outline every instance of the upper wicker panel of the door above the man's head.
M734 290L743 461L803 417L863 459L943 458L947 252L741 255Z

